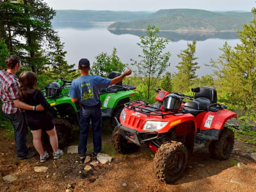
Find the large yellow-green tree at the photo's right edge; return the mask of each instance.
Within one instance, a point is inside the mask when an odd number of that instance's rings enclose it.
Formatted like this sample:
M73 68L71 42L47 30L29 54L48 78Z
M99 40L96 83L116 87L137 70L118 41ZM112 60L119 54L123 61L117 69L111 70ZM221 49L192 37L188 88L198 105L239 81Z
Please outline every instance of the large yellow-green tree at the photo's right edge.
M233 107L243 109L255 108L256 96L256 9L252 9L254 19L250 24L244 24L239 33L240 44L234 49L223 45L220 58L212 61L212 66L218 67L218 87L220 101L230 103ZM236 108L236 107L235 107Z

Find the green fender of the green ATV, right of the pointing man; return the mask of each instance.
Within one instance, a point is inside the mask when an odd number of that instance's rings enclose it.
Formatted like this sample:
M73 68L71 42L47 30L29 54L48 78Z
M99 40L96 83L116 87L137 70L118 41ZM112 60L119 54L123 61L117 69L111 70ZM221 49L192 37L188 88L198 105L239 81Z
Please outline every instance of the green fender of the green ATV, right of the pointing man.
M102 102L102 117L110 117L120 100L130 98L134 95L135 93L130 90L100 95L100 100Z

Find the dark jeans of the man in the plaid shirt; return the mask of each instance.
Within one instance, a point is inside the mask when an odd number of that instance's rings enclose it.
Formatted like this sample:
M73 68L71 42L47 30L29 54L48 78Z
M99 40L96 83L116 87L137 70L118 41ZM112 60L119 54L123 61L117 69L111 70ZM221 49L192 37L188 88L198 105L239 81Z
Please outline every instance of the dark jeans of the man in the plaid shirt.
M26 156L28 154L28 147L26 142L28 140L28 125L24 117L24 113L6 114L14 129L14 138L17 150L17 157Z

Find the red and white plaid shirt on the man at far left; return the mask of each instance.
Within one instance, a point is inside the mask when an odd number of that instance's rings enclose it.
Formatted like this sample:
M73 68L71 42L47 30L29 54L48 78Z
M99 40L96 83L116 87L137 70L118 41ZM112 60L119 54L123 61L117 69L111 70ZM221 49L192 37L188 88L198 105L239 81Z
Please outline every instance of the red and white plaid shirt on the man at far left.
M3 101L2 109L4 113L16 113L18 108L13 100L19 99L19 80L13 74L6 72L6 69L0 70L0 98Z

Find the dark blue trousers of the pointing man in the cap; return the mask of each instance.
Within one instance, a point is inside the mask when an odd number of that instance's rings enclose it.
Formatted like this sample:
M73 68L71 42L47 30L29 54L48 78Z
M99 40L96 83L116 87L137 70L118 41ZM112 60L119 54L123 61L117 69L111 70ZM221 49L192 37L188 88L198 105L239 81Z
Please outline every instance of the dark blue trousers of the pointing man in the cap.
M80 138L78 153L84 154L87 151L87 138L90 129L90 120L92 120L92 131L93 131L93 148L95 153L101 151L101 131L102 131L102 116L100 106L83 106L80 108L80 119L79 119L79 129Z

